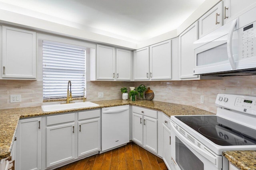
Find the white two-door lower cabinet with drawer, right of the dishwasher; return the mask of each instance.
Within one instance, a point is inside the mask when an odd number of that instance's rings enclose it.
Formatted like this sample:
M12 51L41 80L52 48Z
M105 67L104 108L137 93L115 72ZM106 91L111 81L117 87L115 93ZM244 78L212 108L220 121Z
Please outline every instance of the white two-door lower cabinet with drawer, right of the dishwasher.
M158 153L157 111L132 107L132 140Z

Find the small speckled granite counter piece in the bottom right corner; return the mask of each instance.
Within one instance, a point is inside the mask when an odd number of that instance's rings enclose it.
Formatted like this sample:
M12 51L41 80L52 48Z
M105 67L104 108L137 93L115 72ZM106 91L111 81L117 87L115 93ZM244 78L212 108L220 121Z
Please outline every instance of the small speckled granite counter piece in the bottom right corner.
M222 154L241 170L256 170L256 150L224 151Z

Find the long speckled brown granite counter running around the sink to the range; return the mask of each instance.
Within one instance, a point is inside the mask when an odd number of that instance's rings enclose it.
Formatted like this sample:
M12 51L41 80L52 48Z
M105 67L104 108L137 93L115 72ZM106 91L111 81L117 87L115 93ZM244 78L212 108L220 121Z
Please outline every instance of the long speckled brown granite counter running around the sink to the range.
M86 107L80 109L68 109L63 111L52 111L43 112L41 107L23 107L14 109L0 109L0 159L6 158L10 155L10 150L12 149L12 143L14 141L14 135L16 133L16 128L20 118L35 117L43 115L52 115L58 113L75 112L88 109L96 109L102 107L112 107L121 105L135 105L141 107L147 107L150 109L156 109L162 111L168 116L171 115L208 115L213 114L211 112L198 109L193 106L186 106L180 104L172 104L166 102L149 101L149 100L138 100L132 102L131 100L103 100L94 101L94 103L99 106L96 107Z

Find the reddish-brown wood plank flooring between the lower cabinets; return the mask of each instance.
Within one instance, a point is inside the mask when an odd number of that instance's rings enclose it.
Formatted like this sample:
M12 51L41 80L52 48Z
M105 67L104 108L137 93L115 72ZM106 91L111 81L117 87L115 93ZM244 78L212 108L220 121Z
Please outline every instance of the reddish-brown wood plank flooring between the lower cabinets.
M131 142L55 170L168 170L164 161Z

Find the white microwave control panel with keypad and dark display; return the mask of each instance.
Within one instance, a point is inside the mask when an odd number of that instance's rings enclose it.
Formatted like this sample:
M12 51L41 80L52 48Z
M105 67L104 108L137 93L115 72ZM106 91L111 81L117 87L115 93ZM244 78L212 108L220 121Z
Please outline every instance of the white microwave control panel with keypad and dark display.
M246 59L256 55L256 22L240 28L239 59Z

